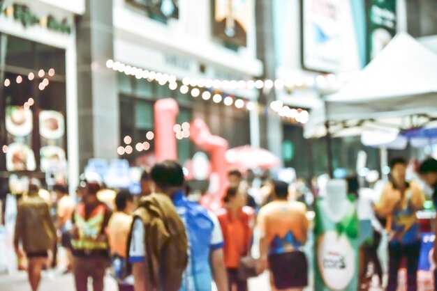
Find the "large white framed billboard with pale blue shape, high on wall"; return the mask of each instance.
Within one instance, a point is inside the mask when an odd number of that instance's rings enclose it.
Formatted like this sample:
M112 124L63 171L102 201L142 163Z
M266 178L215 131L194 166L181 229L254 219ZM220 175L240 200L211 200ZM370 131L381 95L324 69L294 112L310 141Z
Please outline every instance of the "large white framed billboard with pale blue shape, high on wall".
M337 72L341 66L341 1L302 0L302 67Z

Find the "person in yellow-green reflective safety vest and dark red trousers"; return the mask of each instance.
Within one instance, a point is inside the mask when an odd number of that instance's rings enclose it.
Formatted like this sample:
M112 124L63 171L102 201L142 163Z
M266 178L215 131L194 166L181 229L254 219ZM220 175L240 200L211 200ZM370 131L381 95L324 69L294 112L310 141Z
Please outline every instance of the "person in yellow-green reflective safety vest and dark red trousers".
M101 181L97 174L87 173L80 177L82 202L73 214L73 274L77 291L88 290L88 278L92 278L93 290L103 291L103 278L109 267L109 244L106 235L112 211L97 198Z

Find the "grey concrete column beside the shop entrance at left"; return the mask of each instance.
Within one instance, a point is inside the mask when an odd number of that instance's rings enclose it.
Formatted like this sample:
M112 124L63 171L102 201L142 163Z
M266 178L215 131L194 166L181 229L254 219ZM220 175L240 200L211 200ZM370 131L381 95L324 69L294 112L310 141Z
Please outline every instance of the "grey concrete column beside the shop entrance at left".
M77 19L77 95L79 161L117 157L119 98L117 74L106 68L114 56L112 0L87 0Z

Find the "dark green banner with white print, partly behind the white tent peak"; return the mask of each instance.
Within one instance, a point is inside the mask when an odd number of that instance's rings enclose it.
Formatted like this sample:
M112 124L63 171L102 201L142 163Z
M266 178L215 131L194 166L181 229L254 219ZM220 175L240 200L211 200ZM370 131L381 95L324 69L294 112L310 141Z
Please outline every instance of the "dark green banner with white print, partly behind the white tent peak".
M366 17L366 58L370 63L396 34L396 1L366 0Z

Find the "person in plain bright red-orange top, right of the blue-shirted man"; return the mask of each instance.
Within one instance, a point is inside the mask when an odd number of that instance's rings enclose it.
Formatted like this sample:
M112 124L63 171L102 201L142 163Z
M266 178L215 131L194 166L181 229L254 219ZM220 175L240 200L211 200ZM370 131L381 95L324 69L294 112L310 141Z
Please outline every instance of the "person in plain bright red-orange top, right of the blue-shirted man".
M247 290L247 281L238 277L239 261L250 253L255 210L245 206L247 194L237 187L230 187L223 198L225 207L217 217L223 233L225 266L228 271L229 291Z

